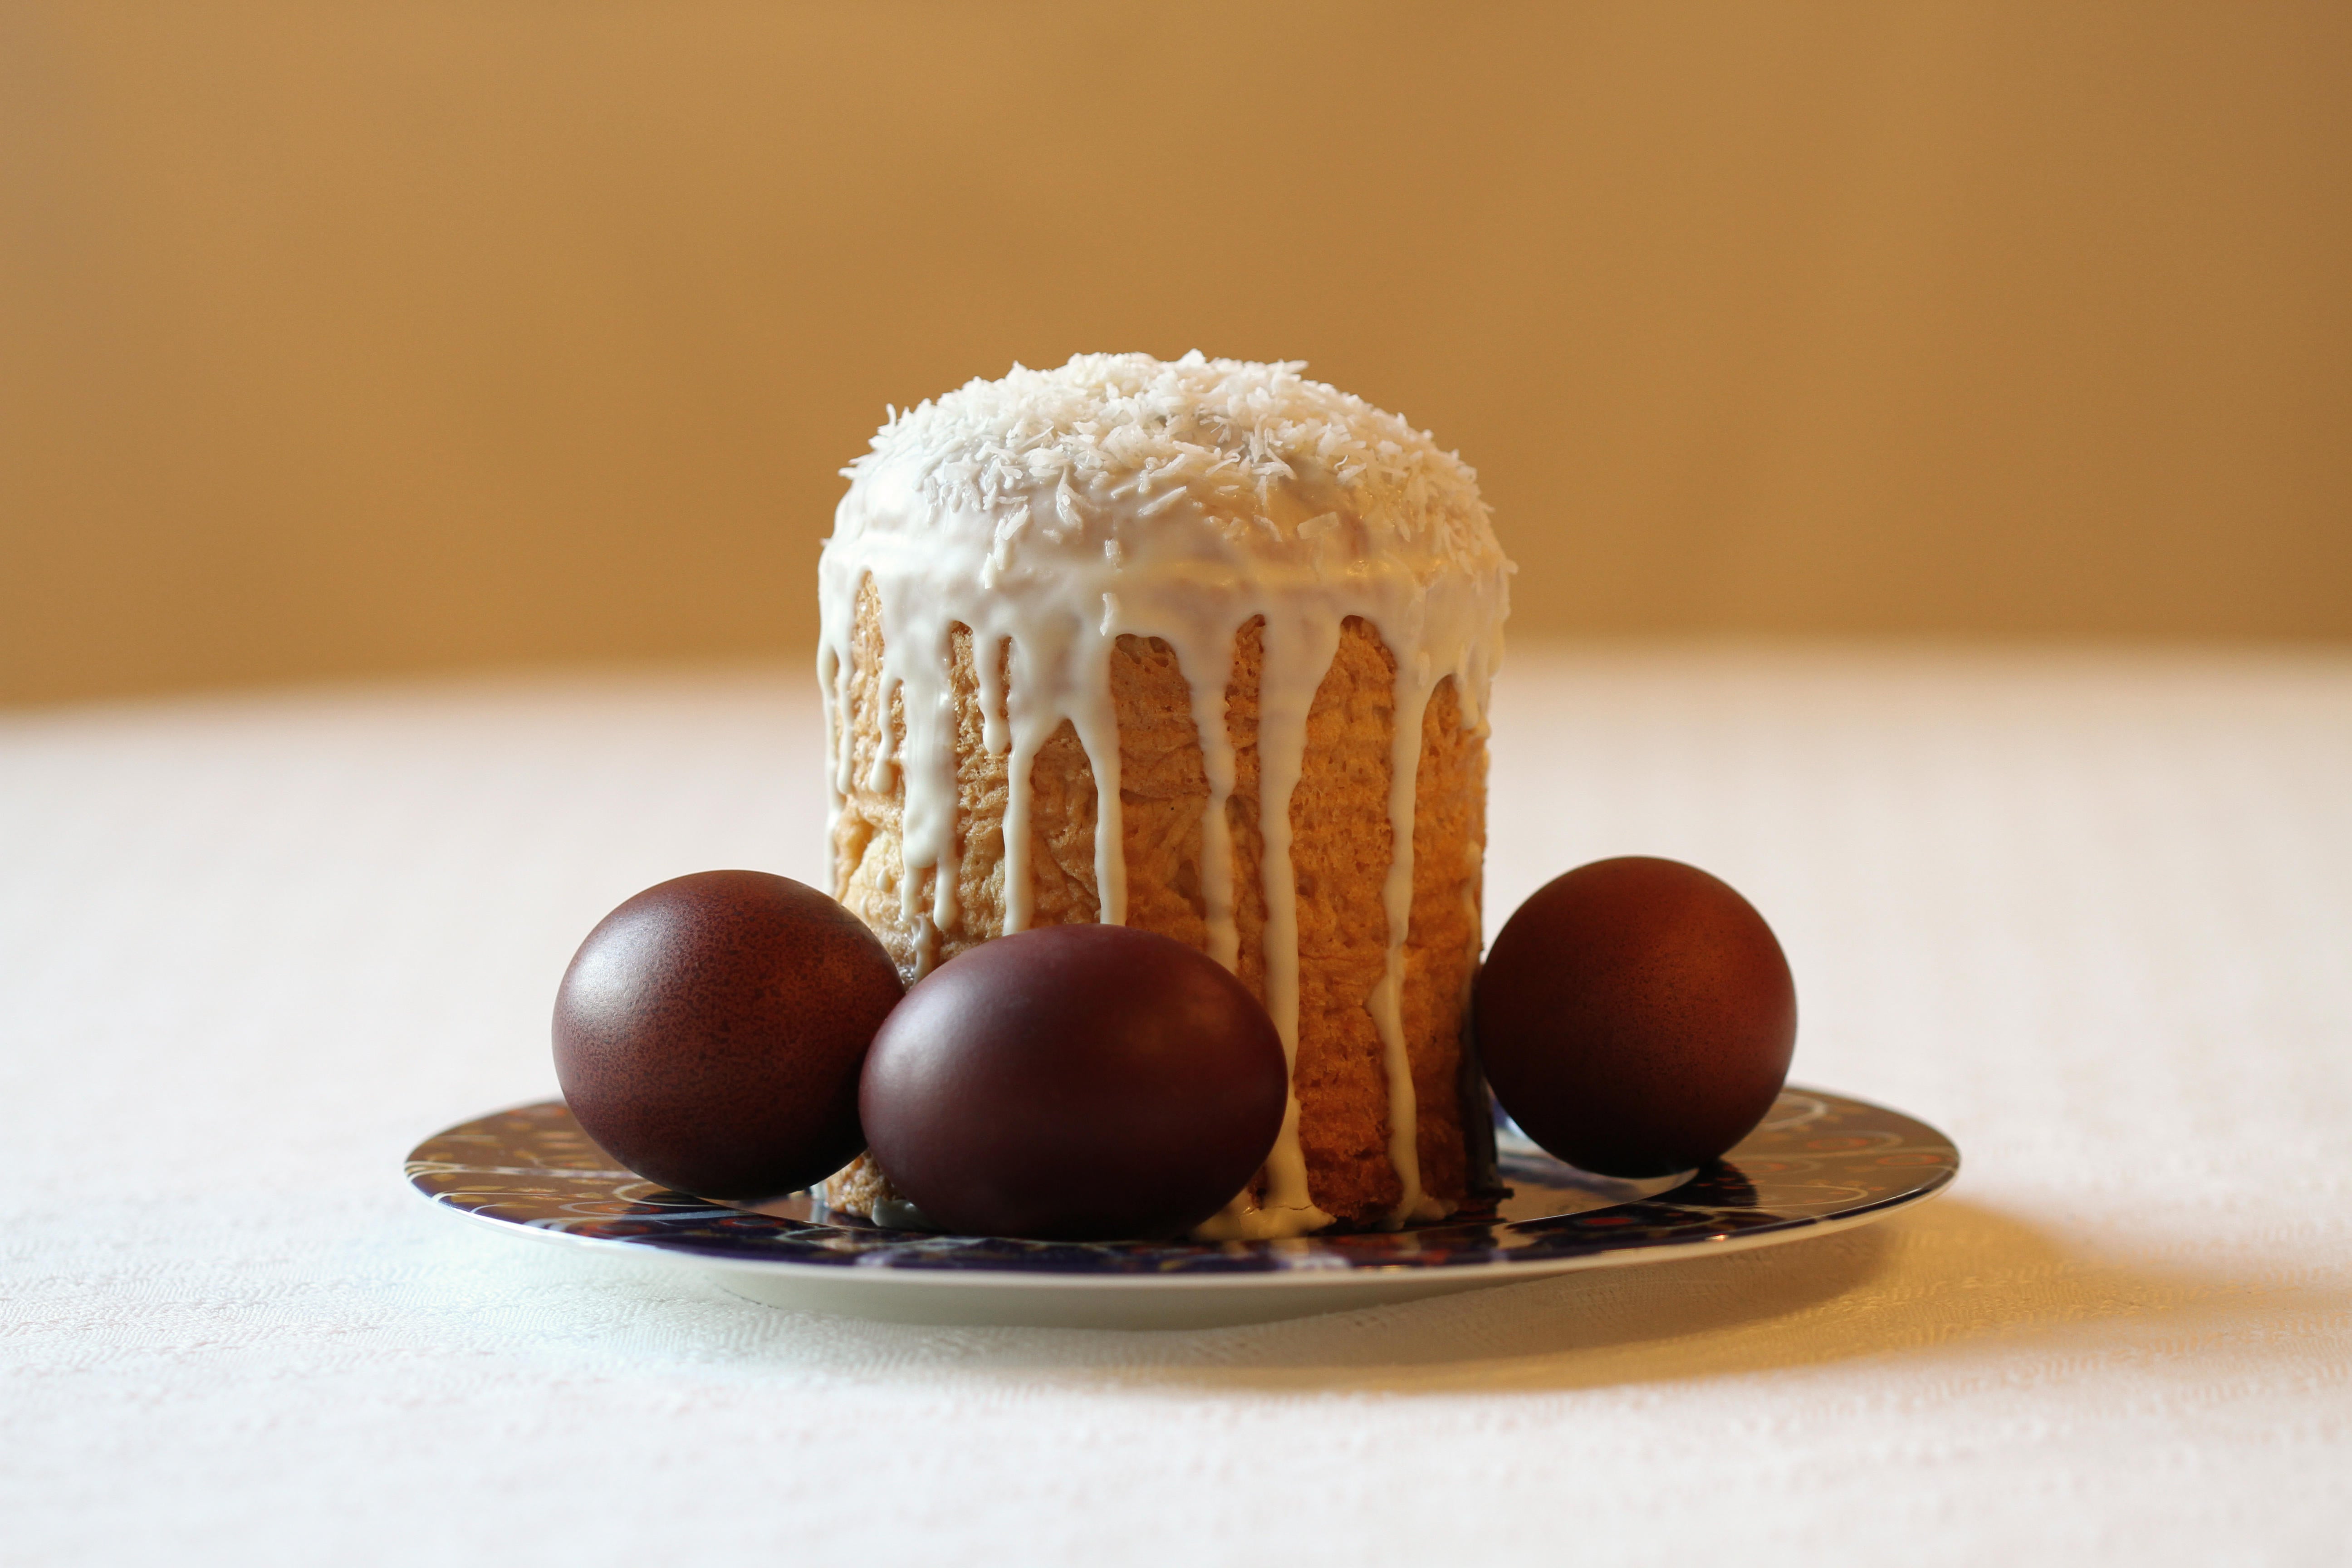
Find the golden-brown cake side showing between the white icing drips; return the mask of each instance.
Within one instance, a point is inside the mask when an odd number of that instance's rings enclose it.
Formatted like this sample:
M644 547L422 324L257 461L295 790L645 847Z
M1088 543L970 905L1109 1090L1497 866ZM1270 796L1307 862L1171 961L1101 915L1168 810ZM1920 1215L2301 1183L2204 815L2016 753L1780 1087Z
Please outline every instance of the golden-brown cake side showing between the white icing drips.
M981 682L974 661L995 658L1009 686L1007 644L976 649L950 630L957 762L957 919L936 933L934 961L1004 931L1007 757L983 743ZM898 769L875 776L882 743L882 616L866 581L856 599L847 682L849 778L833 825L835 896L873 926L901 973L917 973L922 922L906 917L898 832ZM1265 999L1265 893L1258 827L1261 625L1237 628L1225 689L1235 745L1232 830L1237 973ZM1120 722L1120 839L1127 858L1127 924L1207 950L1202 811L1209 778L1192 719L1192 693L1169 644L1120 637L1110 661ZM1291 865L1298 886L1298 1060L1301 1147L1319 1208L1343 1222L1383 1220L1402 1197L1388 1147L1388 1074L1367 1001L1385 971L1381 919L1392 835L1390 738L1395 658L1371 623L1348 618L1338 654L1308 715L1305 764L1291 795ZM1002 712L997 715L1002 719ZM835 717L835 724L840 719ZM906 717L896 693L887 722L894 752ZM1404 1037L1418 1100L1423 1190L1454 1208L1465 1194L1456 1074L1461 1016L1479 940L1484 858L1484 738L1463 724L1454 682L1432 693L1421 726L1414 816L1414 903L1404 950ZM1101 914L1094 875L1096 783L1065 722L1030 769L1030 924L1091 922ZM917 912L931 910L934 872L917 877ZM849 1192L835 1185L835 1204Z

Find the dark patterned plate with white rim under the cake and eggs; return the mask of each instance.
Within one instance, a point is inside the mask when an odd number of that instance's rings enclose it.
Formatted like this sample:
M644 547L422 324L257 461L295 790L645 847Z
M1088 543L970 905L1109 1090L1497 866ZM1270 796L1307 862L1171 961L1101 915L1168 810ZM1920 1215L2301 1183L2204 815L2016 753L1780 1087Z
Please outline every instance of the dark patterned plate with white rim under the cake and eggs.
M508 1234L661 1253L739 1295L903 1324L1204 1328L1820 1237L1940 1192L1952 1140L1788 1088L1731 1154L1646 1182L1566 1166L1512 1128L1512 1194L1482 1218L1296 1241L1007 1241L880 1229L809 1194L727 1208L628 1171L562 1100L452 1126L409 1154L442 1208Z

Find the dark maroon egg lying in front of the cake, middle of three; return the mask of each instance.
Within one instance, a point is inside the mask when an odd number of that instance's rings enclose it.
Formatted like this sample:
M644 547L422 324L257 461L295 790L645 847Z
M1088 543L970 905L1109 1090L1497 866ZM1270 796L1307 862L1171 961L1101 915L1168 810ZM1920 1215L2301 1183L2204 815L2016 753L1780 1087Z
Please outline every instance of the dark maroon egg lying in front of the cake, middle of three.
M873 1157L974 1237L1171 1237L1282 1131L1289 1070L1216 959L1124 926L1044 926L917 983L866 1058Z

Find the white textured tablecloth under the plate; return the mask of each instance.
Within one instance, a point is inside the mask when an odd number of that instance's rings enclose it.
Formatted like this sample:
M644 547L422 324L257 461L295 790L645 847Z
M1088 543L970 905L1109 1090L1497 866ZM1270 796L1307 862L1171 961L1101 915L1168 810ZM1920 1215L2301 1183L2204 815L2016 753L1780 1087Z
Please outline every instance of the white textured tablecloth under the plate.
M0 1561L2340 1563L2352 656L1515 649L1489 905L1766 912L1846 1237L1216 1333L774 1312L400 1182L574 943L814 879L790 672L0 719Z

